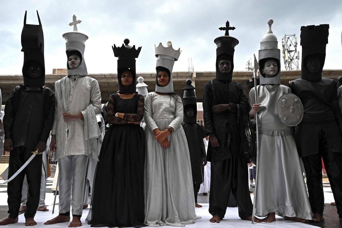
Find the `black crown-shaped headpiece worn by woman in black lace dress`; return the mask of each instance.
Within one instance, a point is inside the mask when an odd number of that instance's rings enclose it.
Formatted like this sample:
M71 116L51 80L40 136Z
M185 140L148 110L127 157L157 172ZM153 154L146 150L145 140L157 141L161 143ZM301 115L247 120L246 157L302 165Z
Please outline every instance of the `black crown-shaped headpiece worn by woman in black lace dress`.
M112 46L114 56L118 57L118 81L119 81L119 93L132 94L136 92L136 71L135 71L135 58L139 56L141 47L135 49L135 45L129 44L129 39L124 39L124 44L121 47ZM122 86L121 75L124 71L130 71L133 76L133 83L130 86Z

